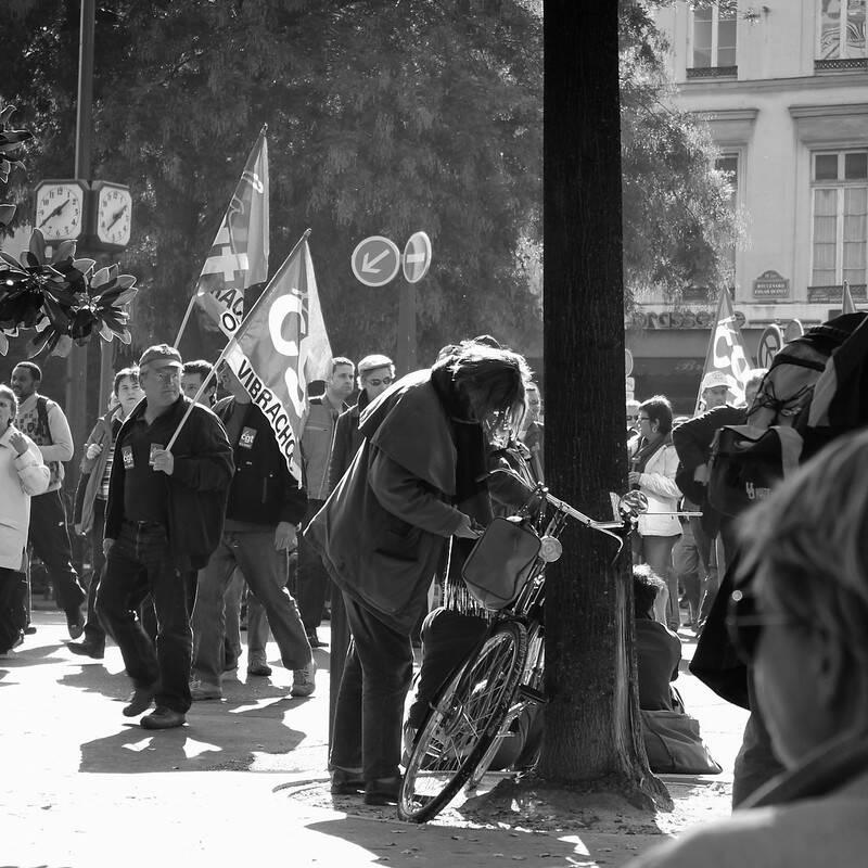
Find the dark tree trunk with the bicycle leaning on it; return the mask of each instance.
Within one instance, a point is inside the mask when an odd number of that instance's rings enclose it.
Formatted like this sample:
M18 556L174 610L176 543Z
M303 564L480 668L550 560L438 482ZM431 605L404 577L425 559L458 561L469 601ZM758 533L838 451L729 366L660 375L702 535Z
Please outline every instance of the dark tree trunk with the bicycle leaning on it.
M617 3L545 10L547 483L595 518L626 484ZM539 776L671 805L641 739L628 546L572 524L549 571Z

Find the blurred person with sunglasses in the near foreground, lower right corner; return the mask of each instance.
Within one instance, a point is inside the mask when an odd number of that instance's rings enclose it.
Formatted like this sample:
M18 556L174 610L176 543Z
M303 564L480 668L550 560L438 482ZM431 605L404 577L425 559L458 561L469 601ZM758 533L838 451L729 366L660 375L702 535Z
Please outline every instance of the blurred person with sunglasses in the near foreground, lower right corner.
M868 852L868 432L842 437L739 524L729 629L784 771L732 819L634 868L864 865Z

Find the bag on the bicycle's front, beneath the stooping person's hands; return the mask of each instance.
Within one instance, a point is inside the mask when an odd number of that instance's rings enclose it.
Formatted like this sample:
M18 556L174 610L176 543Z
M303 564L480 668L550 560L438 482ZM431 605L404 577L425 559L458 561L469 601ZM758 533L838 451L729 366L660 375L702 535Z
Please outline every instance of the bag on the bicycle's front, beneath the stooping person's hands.
M461 577L484 609L497 612L524 587L539 553L539 537L515 519L495 519L468 554Z

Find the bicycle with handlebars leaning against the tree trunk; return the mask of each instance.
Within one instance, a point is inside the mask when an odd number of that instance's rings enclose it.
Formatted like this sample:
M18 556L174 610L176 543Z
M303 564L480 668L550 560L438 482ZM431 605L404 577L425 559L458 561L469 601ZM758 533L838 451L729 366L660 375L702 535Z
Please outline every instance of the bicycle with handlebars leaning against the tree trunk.
M552 514L547 518L549 508ZM424 822L462 786L474 790L513 722L547 702L542 690L546 565L560 557L558 537L567 520L615 539L617 558L637 516L647 510L644 495L629 492L617 503L616 520L595 521L545 486L536 487L516 519L540 537L540 552L518 597L495 614L485 640L446 682L419 728L398 797L401 819Z

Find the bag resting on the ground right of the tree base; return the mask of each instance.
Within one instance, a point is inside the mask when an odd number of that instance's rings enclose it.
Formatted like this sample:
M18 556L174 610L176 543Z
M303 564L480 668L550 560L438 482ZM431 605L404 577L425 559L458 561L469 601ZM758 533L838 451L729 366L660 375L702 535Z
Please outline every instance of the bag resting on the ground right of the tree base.
M684 706L681 706L684 707ZM699 720L684 711L642 711L642 736L651 770L663 775L719 775L699 732Z

